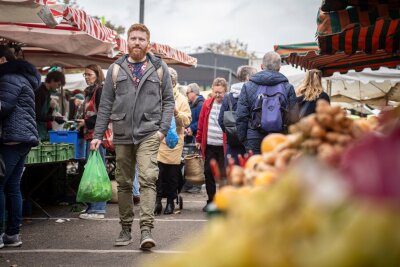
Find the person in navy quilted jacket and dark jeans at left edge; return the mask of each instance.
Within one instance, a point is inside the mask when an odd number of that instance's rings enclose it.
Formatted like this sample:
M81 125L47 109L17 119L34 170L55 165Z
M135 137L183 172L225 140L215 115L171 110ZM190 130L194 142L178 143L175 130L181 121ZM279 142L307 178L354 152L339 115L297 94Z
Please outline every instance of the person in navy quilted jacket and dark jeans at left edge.
M16 60L8 47L0 45L0 155L5 165L5 173L0 176L0 248L22 244L20 183L25 158L38 144L34 89L39 84L36 68Z

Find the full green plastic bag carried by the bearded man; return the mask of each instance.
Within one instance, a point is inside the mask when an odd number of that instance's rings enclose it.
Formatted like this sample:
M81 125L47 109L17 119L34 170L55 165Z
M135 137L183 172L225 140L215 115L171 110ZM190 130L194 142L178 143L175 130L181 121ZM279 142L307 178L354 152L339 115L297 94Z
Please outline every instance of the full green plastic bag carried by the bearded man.
M111 181L99 151L91 151L79 183L77 202L108 201L112 196Z

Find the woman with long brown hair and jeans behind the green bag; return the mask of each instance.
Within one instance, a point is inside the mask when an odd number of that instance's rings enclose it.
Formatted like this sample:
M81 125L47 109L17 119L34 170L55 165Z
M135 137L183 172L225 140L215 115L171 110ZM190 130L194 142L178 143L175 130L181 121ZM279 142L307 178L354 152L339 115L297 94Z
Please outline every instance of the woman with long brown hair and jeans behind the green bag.
M88 87L85 89L85 100L83 103L83 119L77 119L78 129L83 132L83 137L86 142L86 157L89 157L90 142L93 140L94 126L96 124L97 112L99 110L101 94L103 91L104 74L99 65L91 64L86 66L83 73ZM99 146L101 158L105 164L105 148ZM88 203L88 207L84 213L79 215L79 218L86 220L104 219L106 213L106 201Z

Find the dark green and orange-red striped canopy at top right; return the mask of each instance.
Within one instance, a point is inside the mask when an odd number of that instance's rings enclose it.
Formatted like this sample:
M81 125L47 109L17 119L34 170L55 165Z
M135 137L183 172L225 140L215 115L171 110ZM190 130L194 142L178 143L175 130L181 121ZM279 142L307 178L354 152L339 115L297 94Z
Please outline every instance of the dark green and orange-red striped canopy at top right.
M317 18L319 49L276 51L290 64L323 76L400 66L399 0L325 0ZM301 44L300 44L301 45ZM293 45L291 45L293 46ZM287 55L289 54L289 55Z

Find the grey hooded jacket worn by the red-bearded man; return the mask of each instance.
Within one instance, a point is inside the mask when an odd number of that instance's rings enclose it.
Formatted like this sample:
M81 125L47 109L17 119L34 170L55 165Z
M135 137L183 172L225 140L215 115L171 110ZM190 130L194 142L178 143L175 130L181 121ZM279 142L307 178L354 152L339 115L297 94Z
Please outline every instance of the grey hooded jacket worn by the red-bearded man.
M147 68L136 87L127 57L128 55L120 57L108 69L97 112L94 138L103 139L110 119L114 144L139 144L157 131L166 136L175 106L167 64L160 58L147 54ZM112 81L114 64L121 67L116 79L116 89ZM157 75L160 67L163 68L162 81Z

